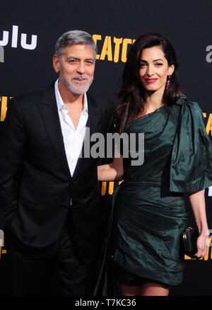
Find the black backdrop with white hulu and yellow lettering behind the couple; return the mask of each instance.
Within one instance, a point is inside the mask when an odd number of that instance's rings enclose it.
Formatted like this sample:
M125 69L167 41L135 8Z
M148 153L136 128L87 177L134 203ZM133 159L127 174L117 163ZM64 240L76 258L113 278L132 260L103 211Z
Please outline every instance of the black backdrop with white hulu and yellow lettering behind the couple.
M212 1L4 0L0 11L0 45L4 45L4 55L0 50L1 121L7 98L45 88L57 79L52 54L57 38L65 31L86 30L97 40L99 59L90 90L105 102L117 102L115 93L133 40L156 31L174 45L182 91L201 106L211 138ZM117 183L107 183L106 189L105 183L102 185L102 199L111 197L113 185ZM212 187L205 194L208 226L212 229ZM193 224L189 206L188 211ZM6 254L1 253L0 258L0 272L4 272ZM185 261L184 282L173 287L170 295L211 295L211 247L204 259L186 257Z

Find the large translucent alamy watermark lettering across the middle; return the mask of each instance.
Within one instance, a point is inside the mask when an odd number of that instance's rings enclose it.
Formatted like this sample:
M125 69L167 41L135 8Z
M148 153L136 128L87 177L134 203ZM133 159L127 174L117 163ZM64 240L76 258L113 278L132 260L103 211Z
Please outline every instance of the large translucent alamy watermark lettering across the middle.
M121 154L123 158L131 159L131 166L141 166L144 161L144 134L114 132L107 133L105 137L101 132L90 134L90 128L86 128L84 148L79 157L112 159L119 158Z

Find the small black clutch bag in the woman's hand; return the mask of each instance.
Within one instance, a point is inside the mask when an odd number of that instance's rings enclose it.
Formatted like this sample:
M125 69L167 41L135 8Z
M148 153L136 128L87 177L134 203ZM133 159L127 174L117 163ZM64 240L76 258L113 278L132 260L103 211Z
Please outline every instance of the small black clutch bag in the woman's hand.
M196 258L194 254L197 252L196 240L199 237L199 232L192 227L188 227L182 234L182 248L184 254L190 258Z

